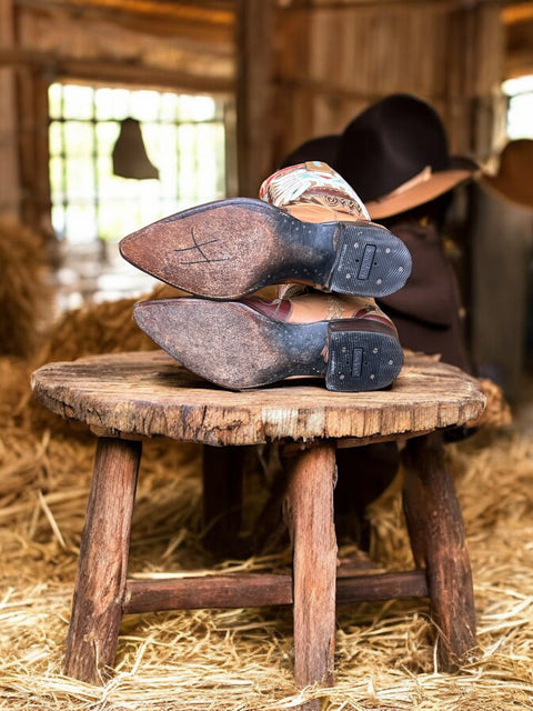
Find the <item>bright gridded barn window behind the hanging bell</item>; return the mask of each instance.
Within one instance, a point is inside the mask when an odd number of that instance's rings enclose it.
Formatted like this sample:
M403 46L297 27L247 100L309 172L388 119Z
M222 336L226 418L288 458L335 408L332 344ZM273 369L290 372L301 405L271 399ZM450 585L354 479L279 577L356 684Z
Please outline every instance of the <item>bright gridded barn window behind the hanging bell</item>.
M117 242L167 214L225 197L224 102L53 83L49 107L52 224L64 251L63 279L76 282L68 306L151 288L152 280L121 260ZM151 166L142 179L113 173L125 127L135 129L134 150Z

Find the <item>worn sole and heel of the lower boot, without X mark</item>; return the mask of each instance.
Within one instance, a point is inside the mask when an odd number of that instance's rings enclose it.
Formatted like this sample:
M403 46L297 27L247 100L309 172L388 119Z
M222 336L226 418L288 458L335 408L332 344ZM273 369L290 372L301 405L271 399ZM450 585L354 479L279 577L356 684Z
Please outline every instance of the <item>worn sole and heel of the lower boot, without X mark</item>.
M329 390L386 388L403 364L392 329L368 319L274 321L239 302L141 301L139 327L185 368L230 390L285 378L325 378Z

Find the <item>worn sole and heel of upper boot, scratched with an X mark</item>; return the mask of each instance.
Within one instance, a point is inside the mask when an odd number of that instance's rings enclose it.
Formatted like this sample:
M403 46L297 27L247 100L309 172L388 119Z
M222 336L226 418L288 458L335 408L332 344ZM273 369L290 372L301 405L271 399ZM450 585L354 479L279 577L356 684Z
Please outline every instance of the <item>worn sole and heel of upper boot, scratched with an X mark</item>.
M172 287L209 299L239 299L283 282L385 297L411 273L405 244L366 221L302 222L249 198L178 212L124 237L122 257Z

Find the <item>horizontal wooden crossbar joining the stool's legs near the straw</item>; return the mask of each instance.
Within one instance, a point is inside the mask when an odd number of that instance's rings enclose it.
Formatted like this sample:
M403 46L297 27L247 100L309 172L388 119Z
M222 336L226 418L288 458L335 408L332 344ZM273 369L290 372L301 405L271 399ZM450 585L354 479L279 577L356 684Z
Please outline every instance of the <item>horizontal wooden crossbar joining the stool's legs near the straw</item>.
M365 602L426 598L428 583L422 570L399 573L342 574L338 571L336 602ZM184 575L127 583L124 614L155 610L202 608L259 608L292 604L292 575L289 573L232 573Z

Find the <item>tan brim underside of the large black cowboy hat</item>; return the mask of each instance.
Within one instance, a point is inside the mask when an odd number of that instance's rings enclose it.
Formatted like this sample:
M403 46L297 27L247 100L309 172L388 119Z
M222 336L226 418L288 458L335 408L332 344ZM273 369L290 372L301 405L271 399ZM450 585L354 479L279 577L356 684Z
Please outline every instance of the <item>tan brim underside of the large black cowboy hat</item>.
M378 200L369 200L364 207L372 220L390 218L430 202L470 178L472 178L472 170L442 170L404 191L390 193Z

